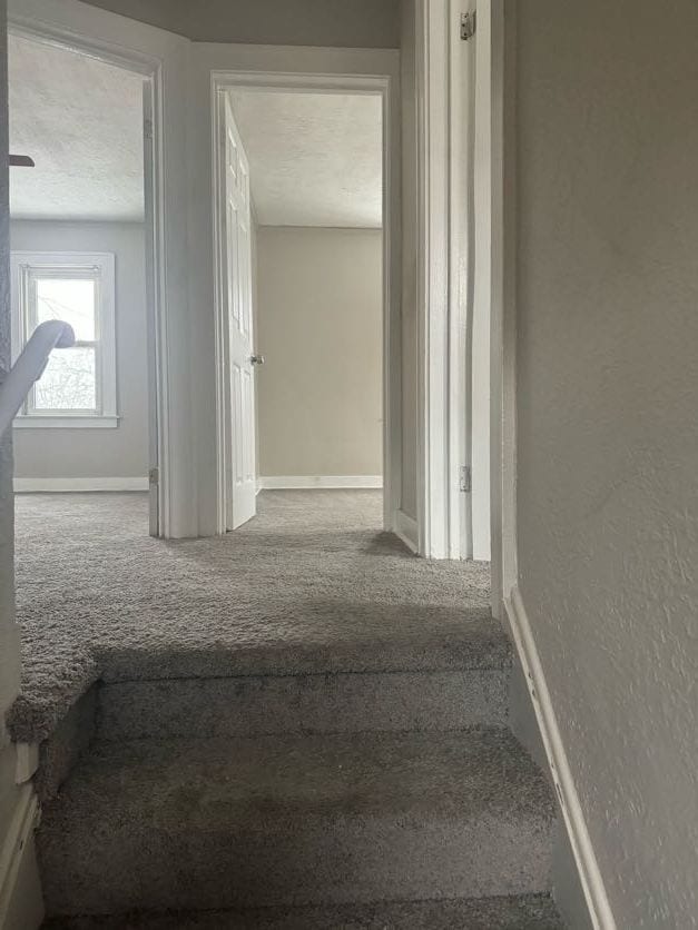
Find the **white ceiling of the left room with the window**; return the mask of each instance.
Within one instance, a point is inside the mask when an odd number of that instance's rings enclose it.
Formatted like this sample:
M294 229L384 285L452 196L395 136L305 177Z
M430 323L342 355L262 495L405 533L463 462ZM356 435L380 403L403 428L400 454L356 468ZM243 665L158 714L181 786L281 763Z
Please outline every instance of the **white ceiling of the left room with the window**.
M142 219L142 78L10 36L9 81L11 216Z

